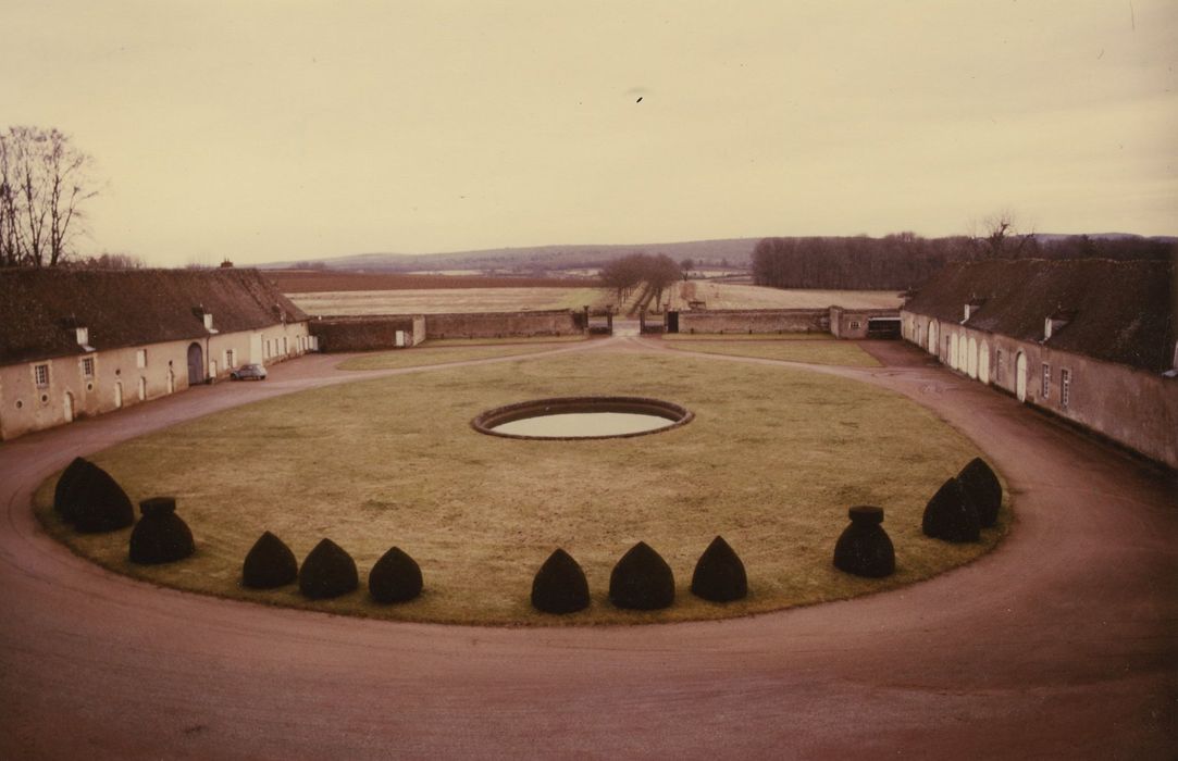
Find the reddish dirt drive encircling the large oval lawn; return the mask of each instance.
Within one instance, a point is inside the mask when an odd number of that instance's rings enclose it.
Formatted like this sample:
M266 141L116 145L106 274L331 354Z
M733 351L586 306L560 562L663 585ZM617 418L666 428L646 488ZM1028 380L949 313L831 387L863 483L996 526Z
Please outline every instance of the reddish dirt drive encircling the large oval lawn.
M557 351L615 350L666 349ZM5 443L0 757L1173 757L1172 478L915 349L872 351L887 366L810 369L906 393L973 438L1015 495L1010 538L895 593L719 623L516 630L270 609L106 573L32 517L31 490L75 454L404 371L305 358L266 383Z

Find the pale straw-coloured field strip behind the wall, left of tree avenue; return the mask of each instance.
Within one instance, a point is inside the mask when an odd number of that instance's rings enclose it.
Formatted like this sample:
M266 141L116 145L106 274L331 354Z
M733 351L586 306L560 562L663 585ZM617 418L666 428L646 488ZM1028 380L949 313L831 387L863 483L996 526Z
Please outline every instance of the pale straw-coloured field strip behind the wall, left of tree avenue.
M580 310L611 303L597 287L478 287L290 293L307 315L438 315Z

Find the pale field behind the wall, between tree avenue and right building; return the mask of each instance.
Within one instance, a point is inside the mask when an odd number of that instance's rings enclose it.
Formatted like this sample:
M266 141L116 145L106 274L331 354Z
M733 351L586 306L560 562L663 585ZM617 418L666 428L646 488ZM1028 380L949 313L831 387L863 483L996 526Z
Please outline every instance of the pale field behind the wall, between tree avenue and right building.
M666 299L666 296L663 297ZM686 310L688 302L703 300L719 309L899 309L904 298L896 291L809 291L782 290L760 285L732 285L704 280L679 283L670 297L670 309Z

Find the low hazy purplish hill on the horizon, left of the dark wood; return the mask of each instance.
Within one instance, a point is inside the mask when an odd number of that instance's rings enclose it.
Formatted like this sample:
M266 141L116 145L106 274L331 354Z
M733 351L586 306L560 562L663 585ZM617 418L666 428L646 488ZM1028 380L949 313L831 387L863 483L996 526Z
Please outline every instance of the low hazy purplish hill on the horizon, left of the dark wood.
M416 272L478 270L510 273L552 270L596 269L628 253L666 253L676 262L693 259L697 265L747 267L760 238L646 243L634 245L551 245L523 249L487 249L451 253L356 253L323 259L271 262L264 270L327 266L332 270L365 272Z

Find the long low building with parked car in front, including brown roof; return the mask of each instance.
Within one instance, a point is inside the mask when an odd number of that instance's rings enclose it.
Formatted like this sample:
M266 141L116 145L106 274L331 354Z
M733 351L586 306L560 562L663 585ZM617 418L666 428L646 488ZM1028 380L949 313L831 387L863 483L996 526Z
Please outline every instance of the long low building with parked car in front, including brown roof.
M313 349L257 270L0 271L0 438Z

